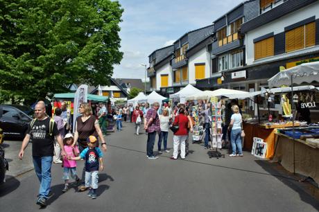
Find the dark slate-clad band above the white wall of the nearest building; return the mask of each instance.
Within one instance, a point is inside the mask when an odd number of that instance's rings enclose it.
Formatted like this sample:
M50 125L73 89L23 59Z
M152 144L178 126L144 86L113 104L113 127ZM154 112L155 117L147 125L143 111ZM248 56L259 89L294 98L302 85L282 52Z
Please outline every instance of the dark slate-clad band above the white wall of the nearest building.
M304 6L308 6L309 4L316 2L317 0L289 0L284 3L276 6L275 8L264 12L263 14L247 21L241 25L241 33L247 33L248 31L258 28L259 26L263 26L264 24L268 24L271 21L279 19L284 15L287 15L290 12L294 12L295 10L299 10Z

